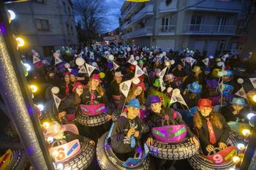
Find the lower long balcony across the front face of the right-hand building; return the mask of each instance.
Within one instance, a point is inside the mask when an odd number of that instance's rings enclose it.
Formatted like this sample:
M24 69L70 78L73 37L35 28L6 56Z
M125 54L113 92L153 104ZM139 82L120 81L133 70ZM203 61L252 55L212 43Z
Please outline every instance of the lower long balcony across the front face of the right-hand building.
M184 34L195 35L235 35L236 26L232 25L201 25L187 24L184 28Z

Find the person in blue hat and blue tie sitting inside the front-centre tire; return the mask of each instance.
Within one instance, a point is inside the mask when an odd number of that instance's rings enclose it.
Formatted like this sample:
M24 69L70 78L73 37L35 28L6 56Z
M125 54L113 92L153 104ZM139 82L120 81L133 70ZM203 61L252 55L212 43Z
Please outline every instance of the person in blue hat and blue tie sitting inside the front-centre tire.
M127 112L123 112L116 120L110 135L111 146L118 158L126 161L134 158L135 150L140 143L141 123L140 101L138 98L130 98L127 104Z

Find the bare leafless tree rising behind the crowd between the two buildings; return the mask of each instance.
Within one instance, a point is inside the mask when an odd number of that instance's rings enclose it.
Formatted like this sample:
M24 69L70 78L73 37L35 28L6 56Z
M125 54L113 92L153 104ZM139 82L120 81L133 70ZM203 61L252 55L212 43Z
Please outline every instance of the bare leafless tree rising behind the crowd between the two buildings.
M105 0L73 0L73 9L78 18L78 40L81 45L91 45L106 23Z

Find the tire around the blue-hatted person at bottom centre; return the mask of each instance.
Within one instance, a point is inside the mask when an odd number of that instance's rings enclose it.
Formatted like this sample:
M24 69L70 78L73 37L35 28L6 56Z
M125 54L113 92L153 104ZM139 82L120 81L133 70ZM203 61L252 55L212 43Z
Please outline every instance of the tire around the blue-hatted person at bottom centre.
M101 169L104 170L127 170L127 168L124 168L122 166L123 161L120 161L116 155L113 153L113 150L108 144L108 140L106 139L106 136L108 135L108 132L103 134L97 144L97 160L99 163L99 166ZM133 169L135 170L147 170L150 169L150 160L149 157L147 156L145 160L140 164L140 166L137 166Z

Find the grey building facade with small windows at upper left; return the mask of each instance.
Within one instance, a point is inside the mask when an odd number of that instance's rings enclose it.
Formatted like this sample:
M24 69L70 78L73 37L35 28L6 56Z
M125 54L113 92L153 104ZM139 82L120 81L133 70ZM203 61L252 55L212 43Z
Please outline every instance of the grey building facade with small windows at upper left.
M15 12L12 31L22 37L26 44L21 53L31 49L40 55L50 56L60 47L75 47L77 31L71 0L33 0L7 4Z

